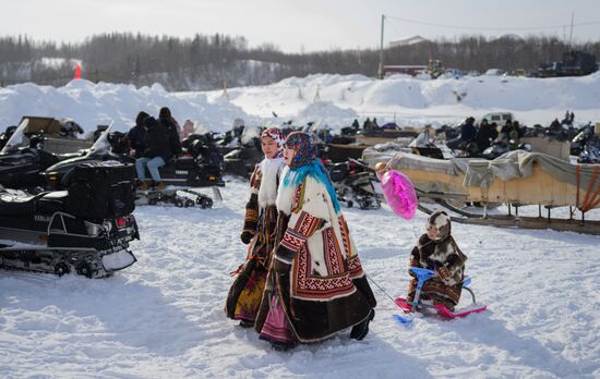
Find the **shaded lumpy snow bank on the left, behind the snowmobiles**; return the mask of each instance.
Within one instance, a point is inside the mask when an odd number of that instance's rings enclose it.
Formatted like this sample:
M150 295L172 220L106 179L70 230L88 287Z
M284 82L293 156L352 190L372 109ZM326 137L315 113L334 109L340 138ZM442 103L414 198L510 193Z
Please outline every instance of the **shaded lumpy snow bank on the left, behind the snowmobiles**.
M180 123L191 119L208 124L213 131L231 129L236 118L257 122L226 99L209 103L202 93L168 93L159 84L135 88L77 80L60 88L31 83L0 88L0 127L19 123L23 115L45 115L71 118L87 132L111 120L116 130L128 131L137 112L157 117L161 107L169 107Z

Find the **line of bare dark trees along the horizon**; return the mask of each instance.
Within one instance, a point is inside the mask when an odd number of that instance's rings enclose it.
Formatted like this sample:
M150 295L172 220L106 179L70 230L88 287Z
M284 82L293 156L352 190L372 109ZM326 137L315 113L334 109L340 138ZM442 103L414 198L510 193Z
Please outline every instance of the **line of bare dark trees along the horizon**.
M441 38L384 50L385 64L427 64L439 59L445 68L484 72L490 68L536 70L560 60L569 49L600 58L600 41L568 44L552 36L523 39L483 36ZM290 76L316 73L376 76L377 49L335 49L285 53L273 44L250 47L241 36L224 34L192 38L110 33L83 42L37 41L27 36L0 37L0 85L22 82L64 85L73 77L74 62L83 77L94 82L160 83L168 90L204 90L264 85Z

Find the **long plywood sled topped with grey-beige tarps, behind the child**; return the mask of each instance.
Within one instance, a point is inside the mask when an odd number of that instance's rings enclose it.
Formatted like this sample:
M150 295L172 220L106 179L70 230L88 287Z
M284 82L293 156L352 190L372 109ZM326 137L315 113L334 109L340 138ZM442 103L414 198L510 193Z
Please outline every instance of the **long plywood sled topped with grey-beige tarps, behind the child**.
M587 211L600 208L600 164L571 164L544 154L517 150L492 161L398 152L387 168L410 179L419 209L427 213L433 211L431 204L437 204L452 212L453 221L461 223L600 235L600 221L585 219ZM466 204L479 205L483 212L469 211ZM506 204L508 213L490 213L497 204ZM526 205L537 205L538 217L519 216L519 207ZM571 217L552 218L555 207L569 207ZM573 218L575 209L580 211L580 220Z

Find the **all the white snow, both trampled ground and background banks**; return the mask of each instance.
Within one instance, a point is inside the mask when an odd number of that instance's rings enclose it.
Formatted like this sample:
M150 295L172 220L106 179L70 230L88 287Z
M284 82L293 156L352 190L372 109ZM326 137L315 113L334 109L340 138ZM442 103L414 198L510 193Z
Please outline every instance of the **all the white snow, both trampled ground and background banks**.
M467 95L457 101L456 94ZM87 131L107 120L127 130L139 111L157 113L163 106L180 122L214 131L229 130L238 118L247 124L313 119L338 127L369 115L380 125L394 118L422 125L499 110L544 124L567 109L576 122L600 121L599 103L600 74L459 81L311 75L226 94L74 81L61 88L0 88L0 126L22 115L50 115L72 118ZM229 272L247 255L239 235L248 183L230 178L221 192L214 209L137 207L141 241L131 246L137 262L111 278L0 271L0 376L600 377L599 236L455 223L471 288L489 308L451 321L417 318L407 328L393 320L399 309L387 295L406 294L408 254L423 233L424 213L406 221L385 205L345 209L365 271L385 291L372 285L379 306L370 333L360 342L340 333L283 353L223 311ZM600 212L588 217L600 219Z

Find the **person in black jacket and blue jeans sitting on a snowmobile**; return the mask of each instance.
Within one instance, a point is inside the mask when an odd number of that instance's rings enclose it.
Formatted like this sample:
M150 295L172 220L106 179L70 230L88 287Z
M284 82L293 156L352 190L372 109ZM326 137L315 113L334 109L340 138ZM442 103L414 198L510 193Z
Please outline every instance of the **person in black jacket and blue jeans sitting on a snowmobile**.
M142 154L142 158L135 160L135 171L137 171L137 178L140 182L142 182L140 190L148 188L145 172L146 168L156 187L163 190L165 188L165 183L160 180L158 168L165 166L171 157L169 144L166 143L168 140L167 131L163 123L158 122L153 117L147 117L143 125L146 130L144 152Z

